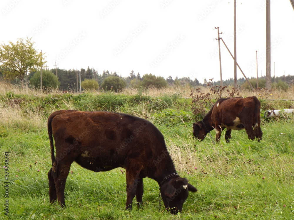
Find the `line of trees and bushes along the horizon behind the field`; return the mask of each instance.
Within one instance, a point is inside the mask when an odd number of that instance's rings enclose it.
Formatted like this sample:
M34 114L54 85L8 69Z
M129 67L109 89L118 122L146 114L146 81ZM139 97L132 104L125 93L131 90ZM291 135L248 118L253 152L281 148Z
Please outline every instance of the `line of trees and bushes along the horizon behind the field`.
M31 38L19 38L16 43L9 42L0 45L0 77L9 79L13 83L21 82L22 86L30 86L40 89L42 76L42 89L58 88L72 92L84 90L113 90L117 92L126 87L155 87L164 88L167 86L186 86L191 88L197 86L205 86L208 84L207 79L204 79L201 84L198 79L190 79L190 77L176 77L171 76L164 79L160 76L145 74L141 77L140 73L134 73L133 70L128 77L118 75L116 71L109 72L103 70L99 74L95 69L88 67L87 69L51 69L47 70L45 66L46 55L38 52L34 48L34 42ZM40 68L42 67L42 68ZM41 70L42 71L41 71ZM209 79L212 82L213 79ZM256 88L257 79L252 77L249 79L250 84ZM293 84L294 77L291 75L282 77L272 77L272 87L287 90L289 85ZM220 81L213 82L214 85L220 85ZM239 87L249 89L249 83L245 81L244 77L237 80ZM233 85L233 78L223 81L224 86ZM265 77L258 79L258 87L265 88Z

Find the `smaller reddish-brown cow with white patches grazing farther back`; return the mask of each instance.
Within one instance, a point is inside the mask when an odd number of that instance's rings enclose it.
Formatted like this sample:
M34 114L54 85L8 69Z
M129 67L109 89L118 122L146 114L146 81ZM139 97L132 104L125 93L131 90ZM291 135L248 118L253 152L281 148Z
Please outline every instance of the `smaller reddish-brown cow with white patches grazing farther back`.
M203 141L206 134L216 129L216 142L219 142L223 129L226 142L230 142L231 131L246 130L248 138L258 141L262 138L260 128L260 101L255 97L221 98L211 107L203 120L193 123L193 134ZM254 129L253 129L254 128Z

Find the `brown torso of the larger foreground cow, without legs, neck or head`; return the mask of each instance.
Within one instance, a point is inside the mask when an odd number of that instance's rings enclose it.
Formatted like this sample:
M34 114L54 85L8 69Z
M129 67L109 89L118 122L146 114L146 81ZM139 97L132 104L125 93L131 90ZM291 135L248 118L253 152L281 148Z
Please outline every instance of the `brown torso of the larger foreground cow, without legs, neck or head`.
M56 155L71 148L81 166L93 171L125 167L128 158L152 159L166 150L161 132L149 121L107 111L63 111L52 119Z

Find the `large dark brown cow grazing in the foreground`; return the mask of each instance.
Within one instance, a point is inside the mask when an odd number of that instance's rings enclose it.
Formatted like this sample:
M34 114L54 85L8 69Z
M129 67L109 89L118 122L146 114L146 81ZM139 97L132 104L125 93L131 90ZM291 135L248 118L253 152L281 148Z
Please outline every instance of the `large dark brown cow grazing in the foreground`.
M149 121L107 111L60 110L48 118L52 168L48 172L50 202L65 207L64 188L71 163L95 172L126 169L126 209L136 196L143 205L143 178L156 180L171 213L182 211L188 191L197 189L181 178L161 132ZM55 141L56 156L54 156Z

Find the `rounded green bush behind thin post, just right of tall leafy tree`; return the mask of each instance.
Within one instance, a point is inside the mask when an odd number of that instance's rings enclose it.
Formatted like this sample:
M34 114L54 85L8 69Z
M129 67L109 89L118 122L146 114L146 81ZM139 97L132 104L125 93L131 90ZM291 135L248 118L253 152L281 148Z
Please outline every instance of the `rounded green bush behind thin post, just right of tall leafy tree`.
M30 78L30 84L36 88L40 88L40 71L36 71L33 76ZM43 89L49 90L52 88L58 88L60 82L56 75L54 75L50 70L43 70L42 71L42 85Z

